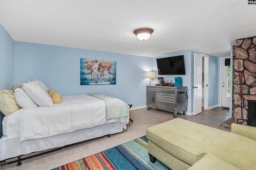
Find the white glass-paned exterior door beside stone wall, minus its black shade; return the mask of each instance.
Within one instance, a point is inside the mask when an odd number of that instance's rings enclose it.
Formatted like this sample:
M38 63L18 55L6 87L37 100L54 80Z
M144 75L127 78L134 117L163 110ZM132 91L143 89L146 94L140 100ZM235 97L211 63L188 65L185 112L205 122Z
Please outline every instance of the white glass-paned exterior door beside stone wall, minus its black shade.
M222 96L221 106L229 108L229 104L230 104L230 66L225 66L225 58L222 58L221 96Z

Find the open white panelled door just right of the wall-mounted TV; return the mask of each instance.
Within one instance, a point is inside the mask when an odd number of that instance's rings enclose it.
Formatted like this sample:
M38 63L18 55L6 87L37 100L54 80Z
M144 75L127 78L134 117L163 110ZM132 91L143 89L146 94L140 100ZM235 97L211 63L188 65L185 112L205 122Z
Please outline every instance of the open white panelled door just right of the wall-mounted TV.
M202 56L194 53L194 115L202 112Z

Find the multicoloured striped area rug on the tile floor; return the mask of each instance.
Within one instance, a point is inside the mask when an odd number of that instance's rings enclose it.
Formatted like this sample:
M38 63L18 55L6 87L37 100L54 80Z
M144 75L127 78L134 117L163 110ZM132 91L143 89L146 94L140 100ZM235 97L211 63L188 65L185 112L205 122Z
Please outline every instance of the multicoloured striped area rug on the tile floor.
M103 152L52 170L170 170L148 156L148 139L142 136Z

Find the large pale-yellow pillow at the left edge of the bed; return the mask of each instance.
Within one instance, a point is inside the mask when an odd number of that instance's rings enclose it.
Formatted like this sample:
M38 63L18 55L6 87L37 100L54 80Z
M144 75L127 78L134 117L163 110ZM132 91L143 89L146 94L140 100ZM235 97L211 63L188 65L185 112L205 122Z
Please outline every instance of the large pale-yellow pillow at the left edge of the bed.
M1 90L0 91L0 111L6 116L10 115L20 106L15 101L12 90Z

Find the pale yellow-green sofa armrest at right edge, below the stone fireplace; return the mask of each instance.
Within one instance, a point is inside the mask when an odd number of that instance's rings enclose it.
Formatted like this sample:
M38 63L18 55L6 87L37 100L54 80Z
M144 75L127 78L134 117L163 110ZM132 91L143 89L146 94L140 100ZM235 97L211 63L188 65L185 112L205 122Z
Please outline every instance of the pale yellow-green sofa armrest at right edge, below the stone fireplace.
M256 127L232 123L231 132L256 140Z

